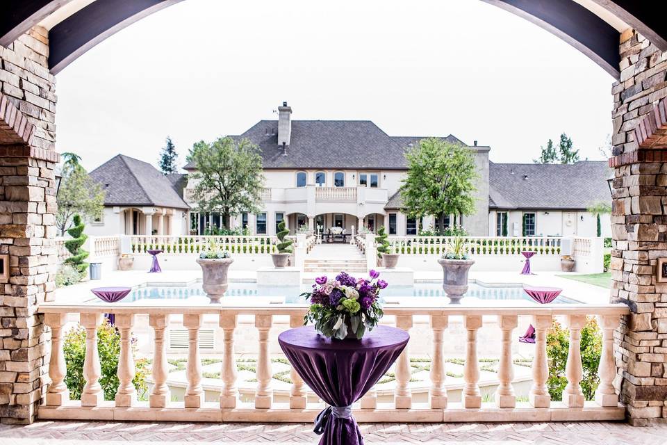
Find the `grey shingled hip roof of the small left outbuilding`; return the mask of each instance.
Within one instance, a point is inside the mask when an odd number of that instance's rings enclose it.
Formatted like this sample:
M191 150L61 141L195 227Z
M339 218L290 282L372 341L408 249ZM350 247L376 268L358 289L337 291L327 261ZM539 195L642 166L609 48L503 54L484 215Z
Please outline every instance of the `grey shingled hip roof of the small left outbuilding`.
M106 191L106 206L159 206L188 209L177 186L183 176L167 178L153 165L118 154L90 172ZM173 181L173 182L172 182Z

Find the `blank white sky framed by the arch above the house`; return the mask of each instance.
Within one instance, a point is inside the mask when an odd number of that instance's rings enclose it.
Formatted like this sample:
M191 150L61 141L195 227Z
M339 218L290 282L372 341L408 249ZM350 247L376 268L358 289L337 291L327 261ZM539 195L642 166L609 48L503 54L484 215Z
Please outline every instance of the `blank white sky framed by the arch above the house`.
M479 0L186 0L129 26L57 76L60 152L89 170L156 164L275 119L372 120L391 136L491 145L532 162L572 136L602 159L614 79L554 35ZM361 149L361 148L360 148Z

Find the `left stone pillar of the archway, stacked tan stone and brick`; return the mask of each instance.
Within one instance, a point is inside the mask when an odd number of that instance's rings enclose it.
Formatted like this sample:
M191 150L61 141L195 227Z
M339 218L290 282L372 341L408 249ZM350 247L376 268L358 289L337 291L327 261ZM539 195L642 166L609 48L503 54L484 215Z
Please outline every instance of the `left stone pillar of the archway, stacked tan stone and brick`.
M35 27L0 47L0 254L10 279L0 283L0 418L29 423L48 383L50 333L37 305L54 289L56 184L55 79L47 68L48 33ZM1 103L1 102L0 102ZM21 115L22 113L22 115ZM18 116L18 117L17 117ZM31 137L12 129L21 118ZM19 124L16 124L19 127ZM19 131L22 132L23 130Z

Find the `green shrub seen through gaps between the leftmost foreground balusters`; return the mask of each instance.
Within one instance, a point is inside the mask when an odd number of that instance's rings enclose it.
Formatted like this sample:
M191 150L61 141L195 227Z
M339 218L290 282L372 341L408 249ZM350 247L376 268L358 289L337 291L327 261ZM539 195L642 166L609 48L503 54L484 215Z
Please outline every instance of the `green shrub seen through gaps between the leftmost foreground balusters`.
M102 323L97 330L97 349L99 350L99 363L102 371L99 384L104 391L104 399L111 401L115 398L119 385L117 369L118 357L120 356L120 334L109 323ZM135 340L132 342L132 349L136 351ZM81 325L67 332L63 350L65 364L67 365L65 385L69 389L69 396L72 399L79 400L85 385L85 379L83 378L85 329ZM135 359L135 376L132 382L139 398L144 398L147 393L146 378L148 373L149 361L147 359Z

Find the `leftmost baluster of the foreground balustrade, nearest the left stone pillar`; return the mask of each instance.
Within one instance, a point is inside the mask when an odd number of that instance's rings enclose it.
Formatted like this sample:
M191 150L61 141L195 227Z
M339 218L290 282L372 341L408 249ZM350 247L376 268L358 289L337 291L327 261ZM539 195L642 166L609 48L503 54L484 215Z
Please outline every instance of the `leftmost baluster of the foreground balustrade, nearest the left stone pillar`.
M44 314L44 323L51 327L51 359L49 360L51 385L47 392L47 405L60 406L69 401L69 389L65 385L67 366L63 351L63 326L67 323L67 314Z

